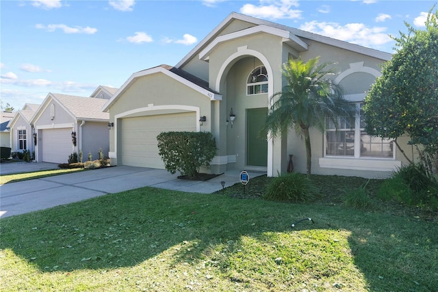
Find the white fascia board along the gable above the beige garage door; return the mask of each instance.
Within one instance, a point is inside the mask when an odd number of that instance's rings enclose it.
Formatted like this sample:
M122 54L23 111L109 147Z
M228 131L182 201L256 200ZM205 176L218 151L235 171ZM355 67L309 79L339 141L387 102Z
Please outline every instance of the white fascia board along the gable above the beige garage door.
M139 72L135 72L133 73L133 75L131 75L131 77L129 77L129 79L123 83L122 87L120 87L117 92L114 94L114 96L112 96L112 98L110 98L109 101L107 101L107 103L105 103L105 105L103 105L102 111L108 111L111 107L111 105L114 103L114 101L116 101L116 99L118 98L118 96L125 91L125 89L133 82L135 81L135 79L139 78L139 77L144 77L147 75L151 75L151 74L156 74L156 73L163 73L165 75L167 75L168 77L175 79L181 83L183 83L184 85L187 85L188 87L192 88L193 90L196 90L197 92L207 96L208 98L210 98L211 101L222 101L222 95L221 94L216 94L214 92L211 92L209 90L206 90L205 88L201 88L201 86L196 85L195 83L192 83L190 81L188 81L187 79L173 73L170 72L169 70L167 70L166 68L163 68L161 66L158 67L154 67L154 68L150 68L150 69L146 69L146 70L142 70Z

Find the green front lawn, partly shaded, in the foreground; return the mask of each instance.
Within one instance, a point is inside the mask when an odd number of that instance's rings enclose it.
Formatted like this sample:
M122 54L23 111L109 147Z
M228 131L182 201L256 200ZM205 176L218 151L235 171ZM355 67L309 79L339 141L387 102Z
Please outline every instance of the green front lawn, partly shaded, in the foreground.
M269 179L253 178L245 195L241 185L217 194L144 187L6 217L2 289L436 291L437 222L398 205L344 207L343 186L359 178L313 176L330 194L313 204L255 200ZM307 217L315 224L292 228Z

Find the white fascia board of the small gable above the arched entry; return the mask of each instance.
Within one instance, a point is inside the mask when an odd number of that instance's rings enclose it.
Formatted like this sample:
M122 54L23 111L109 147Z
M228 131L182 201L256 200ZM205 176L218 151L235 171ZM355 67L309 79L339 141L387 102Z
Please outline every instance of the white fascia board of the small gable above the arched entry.
M290 31L284 30L284 29L278 29L275 27L268 27L266 25L257 25L255 27L250 27L247 29L242 29L241 31L235 31L231 34L225 34L223 36L218 36L213 40L213 42L210 42L201 53L199 53L199 59L207 59L211 51L220 43L227 42L229 40L235 40L237 38L243 38L245 36L250 36L253 34L272 34L274 36L279 36L280 38L283 38L283 42L291 41L298 44L300 47L302 47L302 50L307 50L307 44L300 40L300 38L294 36Z

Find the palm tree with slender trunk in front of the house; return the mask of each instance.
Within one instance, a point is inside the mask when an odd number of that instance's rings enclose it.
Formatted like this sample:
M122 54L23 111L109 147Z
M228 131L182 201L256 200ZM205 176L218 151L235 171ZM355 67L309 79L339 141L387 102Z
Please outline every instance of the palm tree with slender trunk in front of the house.
M354 118L355 105L342 95L342 88L328 78L335 72L319 64L320 57L289 59L283 64L283 76L287 85L282 92L271 97L271 108L263 130L272 137L287 133L290 127L304 137L307 155L307 176L311 174L311 144L309 129L315 127L324 133L326 122L333 122L338 128L342 118Z

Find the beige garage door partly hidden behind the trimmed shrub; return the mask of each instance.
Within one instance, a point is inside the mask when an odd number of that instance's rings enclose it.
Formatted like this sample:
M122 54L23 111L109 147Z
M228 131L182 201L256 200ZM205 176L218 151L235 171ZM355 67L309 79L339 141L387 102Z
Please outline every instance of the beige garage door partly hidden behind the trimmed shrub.
M196 114L124 118L121 131L123 165L164 169L158 155L157 135L168 131L196 131Z

